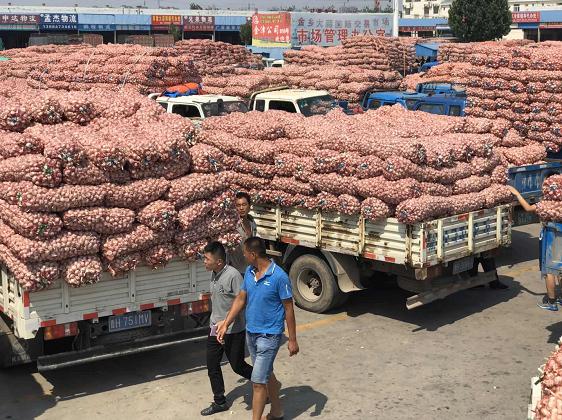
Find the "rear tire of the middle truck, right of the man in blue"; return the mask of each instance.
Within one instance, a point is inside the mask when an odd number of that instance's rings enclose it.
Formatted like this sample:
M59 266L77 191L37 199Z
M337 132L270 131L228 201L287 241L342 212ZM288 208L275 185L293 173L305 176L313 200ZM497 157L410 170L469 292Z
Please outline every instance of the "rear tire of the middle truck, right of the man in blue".
M338 287L330 266L315 255L302 255L289 271L295 303L310 312L323 313L347 298Z

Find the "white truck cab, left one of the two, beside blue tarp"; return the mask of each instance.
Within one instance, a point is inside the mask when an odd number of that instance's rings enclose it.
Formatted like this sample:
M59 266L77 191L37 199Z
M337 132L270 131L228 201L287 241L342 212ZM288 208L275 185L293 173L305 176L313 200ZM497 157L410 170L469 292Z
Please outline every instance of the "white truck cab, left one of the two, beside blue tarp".
M232 112L248 112L244 101L236 96L223 95L190 95L175 98L159 93L149 95L158 102L166 112L178 114L194 121L209 117L218 117Z

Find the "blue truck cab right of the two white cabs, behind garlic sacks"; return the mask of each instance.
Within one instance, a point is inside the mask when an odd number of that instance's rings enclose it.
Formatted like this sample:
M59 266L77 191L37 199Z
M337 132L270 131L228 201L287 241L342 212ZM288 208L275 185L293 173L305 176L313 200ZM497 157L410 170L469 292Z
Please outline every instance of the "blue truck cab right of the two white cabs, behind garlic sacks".
M383 106L402 105L410 111L422 111L437 115L464 116L466 95L433 94L419 92L372 92L363 99L363 110Z

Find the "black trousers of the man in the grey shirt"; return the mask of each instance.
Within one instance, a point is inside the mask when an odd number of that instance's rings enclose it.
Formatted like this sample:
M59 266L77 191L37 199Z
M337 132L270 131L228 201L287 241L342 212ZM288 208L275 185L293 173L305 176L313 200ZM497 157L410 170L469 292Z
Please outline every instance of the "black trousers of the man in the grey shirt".
M215 402L224 404L224 379L222 377L221 361L222 356L226 358L232 370L238 375L250 380L252 377L252 366L244 360L246 351L246 331L224 336L224 345L217 341L217 337L207 338L207 373L211 380L211 389Z

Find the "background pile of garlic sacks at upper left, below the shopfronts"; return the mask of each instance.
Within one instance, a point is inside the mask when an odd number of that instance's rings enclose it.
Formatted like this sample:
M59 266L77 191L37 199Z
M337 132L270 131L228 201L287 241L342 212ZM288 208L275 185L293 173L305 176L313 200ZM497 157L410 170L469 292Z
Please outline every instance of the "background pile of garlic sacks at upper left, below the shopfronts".
M37 89L87 90L92 86L135 86L163 92L201 81L193 62L174 48L140 45L46 45L3 51L0 80L25 79Z

